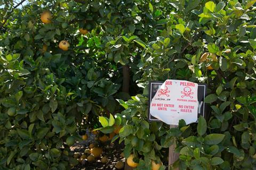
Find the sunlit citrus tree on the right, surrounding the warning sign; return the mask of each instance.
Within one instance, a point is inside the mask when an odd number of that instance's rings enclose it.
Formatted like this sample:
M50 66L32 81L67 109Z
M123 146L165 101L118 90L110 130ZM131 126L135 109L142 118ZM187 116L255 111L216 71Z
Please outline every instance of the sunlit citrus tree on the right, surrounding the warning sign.
M255 167L254 3L170 2L165 28L146 43L137 65L143 94L119 100L125 108L119 115L125 117L119 141L125 142L126 157L133 154L131 166L139 163L137 169L151 169L152 160L163 161L163 148L176 143L180 157L171 168ZM206 117L191 125L181 120L172 129L148 123L147 84L166 79L207 83Z

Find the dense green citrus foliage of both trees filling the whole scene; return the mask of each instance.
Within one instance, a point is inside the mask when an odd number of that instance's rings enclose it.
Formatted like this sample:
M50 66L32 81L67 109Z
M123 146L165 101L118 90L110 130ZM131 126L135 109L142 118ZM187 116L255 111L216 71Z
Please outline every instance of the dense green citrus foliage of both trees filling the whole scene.
M101 130L121 123L137 169L163 162L174 142L180 169L255 168L256 1L49 0L13 11L8 2L0 3L0 167L69 169L77 131L99 128L98 116L112 113L100 117ZM52 23L40 21L45 10ZM63 39L67 52L58 48ZM148 81L166 79L207 83L206 120L177 129L147 122Z

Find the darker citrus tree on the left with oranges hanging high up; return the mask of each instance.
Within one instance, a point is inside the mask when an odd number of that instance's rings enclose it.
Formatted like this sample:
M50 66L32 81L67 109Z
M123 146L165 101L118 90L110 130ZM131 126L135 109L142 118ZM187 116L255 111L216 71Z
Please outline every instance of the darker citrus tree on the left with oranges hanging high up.
M164 10L151 14L143 1L0 5L1 167L68 169L77 131L137 93L138 56L167 22Z

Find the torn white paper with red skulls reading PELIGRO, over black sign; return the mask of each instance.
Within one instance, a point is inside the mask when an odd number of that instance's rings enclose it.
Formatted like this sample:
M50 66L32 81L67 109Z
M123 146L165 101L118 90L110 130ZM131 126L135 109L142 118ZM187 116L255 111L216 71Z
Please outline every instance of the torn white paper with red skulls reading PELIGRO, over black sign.
M198 84L186 80L166 80L156 91L150 103L150 114L164 123L178 125L197 121Z

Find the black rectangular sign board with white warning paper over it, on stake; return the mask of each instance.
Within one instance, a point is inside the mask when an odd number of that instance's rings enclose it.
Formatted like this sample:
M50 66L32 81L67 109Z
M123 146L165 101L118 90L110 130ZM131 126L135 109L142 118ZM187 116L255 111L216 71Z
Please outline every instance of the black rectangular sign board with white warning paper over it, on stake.
M178 125L197 121L205 113L206 84L186 80L152 81L149 83L149 121Z

